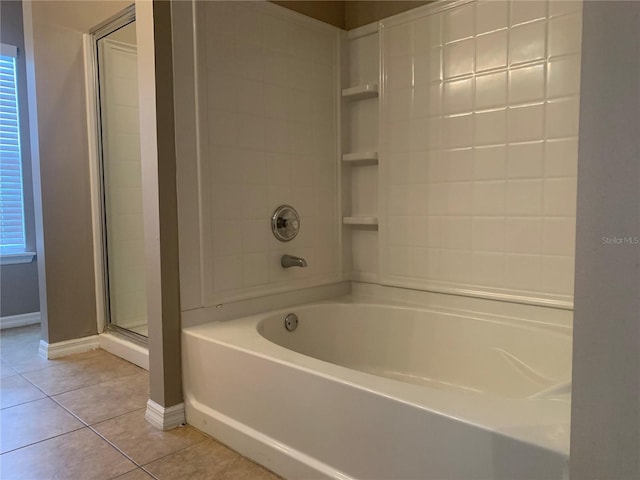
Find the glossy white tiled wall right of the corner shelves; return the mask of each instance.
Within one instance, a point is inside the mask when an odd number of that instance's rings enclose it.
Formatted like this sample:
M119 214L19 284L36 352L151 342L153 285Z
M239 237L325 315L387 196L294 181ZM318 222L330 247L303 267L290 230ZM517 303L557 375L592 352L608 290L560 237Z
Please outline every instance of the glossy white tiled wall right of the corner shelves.
M571 302L581 11L382 22L381 283Z

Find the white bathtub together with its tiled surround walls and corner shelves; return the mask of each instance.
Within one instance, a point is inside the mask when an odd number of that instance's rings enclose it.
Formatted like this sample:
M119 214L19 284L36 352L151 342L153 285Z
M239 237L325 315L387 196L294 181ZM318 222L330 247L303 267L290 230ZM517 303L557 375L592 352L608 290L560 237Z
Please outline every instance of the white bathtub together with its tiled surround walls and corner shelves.
M567 478L581 3L194 9L187 421L288 478Z

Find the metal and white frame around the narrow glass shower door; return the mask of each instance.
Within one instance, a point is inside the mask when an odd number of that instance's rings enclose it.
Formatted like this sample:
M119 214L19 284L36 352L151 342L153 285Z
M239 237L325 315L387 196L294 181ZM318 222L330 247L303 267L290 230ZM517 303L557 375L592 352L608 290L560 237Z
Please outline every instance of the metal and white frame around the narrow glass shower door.
M85 83L87 86L87 123L91 169L91 197L93 218L94 268L96 281L96 313L98 333L116 333L127 340L146 347L148 337L111 322L110 282L108 265L107 212L104 178L104 145L102 135L102 107L98 41L136 20L132 4L84 35Z

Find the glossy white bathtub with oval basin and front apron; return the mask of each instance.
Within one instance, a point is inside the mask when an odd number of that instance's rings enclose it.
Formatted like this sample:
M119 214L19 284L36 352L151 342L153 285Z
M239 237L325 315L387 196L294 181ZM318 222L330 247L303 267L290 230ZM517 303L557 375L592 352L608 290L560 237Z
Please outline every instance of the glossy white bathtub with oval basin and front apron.
M185 328L183 360L187 421L285 478L568 478L566 326L322 302Z

